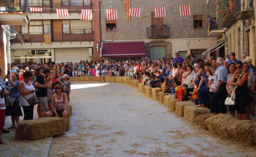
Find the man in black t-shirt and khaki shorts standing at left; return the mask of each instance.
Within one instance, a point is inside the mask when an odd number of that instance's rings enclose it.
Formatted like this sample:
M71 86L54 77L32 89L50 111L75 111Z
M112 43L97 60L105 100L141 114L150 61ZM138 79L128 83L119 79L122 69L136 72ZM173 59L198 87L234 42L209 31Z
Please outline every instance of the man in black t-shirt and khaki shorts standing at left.
M38 105L41 108L40 117L45 117L45 113L48 111L47 88L50 88L50 86L46 85L45 78L49 73L50 70L48 68L44 68L43 74L36 77L35 87L38 88L36 91L36 97L38 97Z

